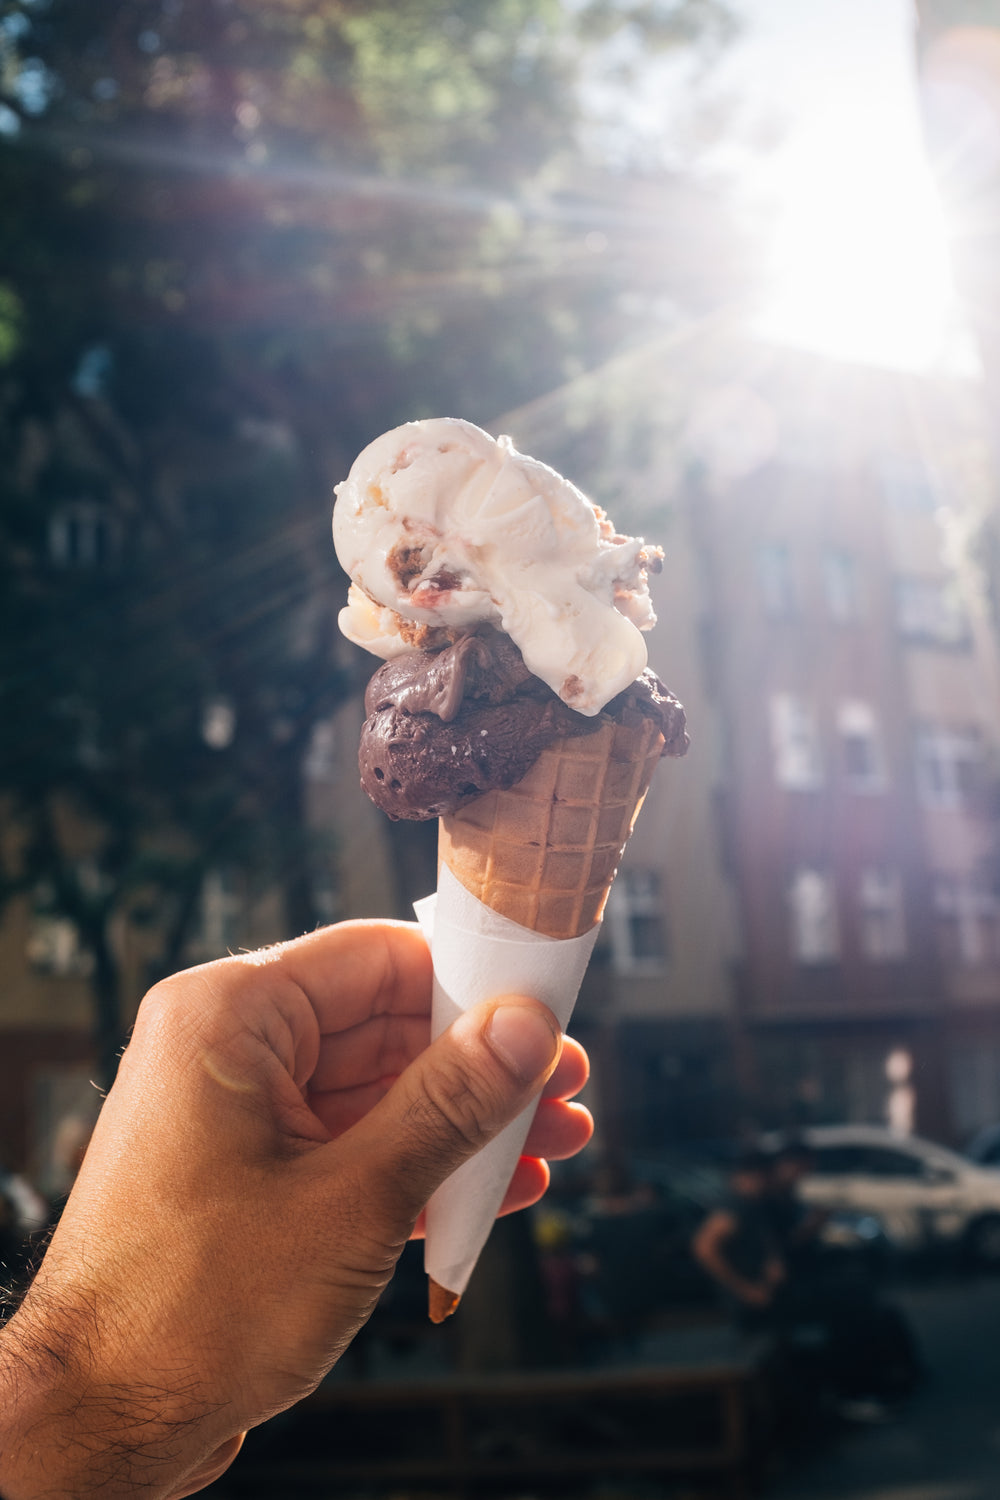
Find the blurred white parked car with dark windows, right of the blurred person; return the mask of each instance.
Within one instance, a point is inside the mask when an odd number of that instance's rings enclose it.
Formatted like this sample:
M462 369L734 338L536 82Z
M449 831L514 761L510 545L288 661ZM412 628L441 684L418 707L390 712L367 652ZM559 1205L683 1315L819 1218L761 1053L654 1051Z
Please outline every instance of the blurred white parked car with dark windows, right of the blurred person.
M825 1125L802 1134L816 1154L816 1167L801 1184L807 1202L874 1215L900 1251L960 1251L1000 1269L996 1168L877 1125Z

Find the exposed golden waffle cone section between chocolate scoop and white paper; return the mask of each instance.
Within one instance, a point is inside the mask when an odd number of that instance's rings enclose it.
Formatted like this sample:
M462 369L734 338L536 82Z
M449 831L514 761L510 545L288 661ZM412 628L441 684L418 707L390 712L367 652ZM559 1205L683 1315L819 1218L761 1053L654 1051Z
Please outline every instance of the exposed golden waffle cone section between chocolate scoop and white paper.
M441 819L441 862L522 927L582 936L601 920L663 746L649 718L558 740L516 786Z

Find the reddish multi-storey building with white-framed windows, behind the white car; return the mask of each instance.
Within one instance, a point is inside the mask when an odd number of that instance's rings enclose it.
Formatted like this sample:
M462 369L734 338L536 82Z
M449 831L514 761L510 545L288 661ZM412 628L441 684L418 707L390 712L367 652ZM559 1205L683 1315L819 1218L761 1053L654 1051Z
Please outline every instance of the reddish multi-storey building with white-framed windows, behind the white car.
M978 392L760 345L733 369L684 513L739 891L735 1074L775 1124L961 1138L1000 1113L997 639L945 530L990 476Z

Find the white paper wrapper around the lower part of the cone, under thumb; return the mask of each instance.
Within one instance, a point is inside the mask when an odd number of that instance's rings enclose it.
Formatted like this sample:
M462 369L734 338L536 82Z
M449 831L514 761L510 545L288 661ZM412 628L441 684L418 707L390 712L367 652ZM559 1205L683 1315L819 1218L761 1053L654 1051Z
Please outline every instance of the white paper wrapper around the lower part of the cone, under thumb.
M414 904L433 956L432 1034L498 994L529 994L570 1024L600 924L582 938L547 938L499 916L441 867L436 896ZM444 1182L427 1204L424 1269L462 1294L504 1200L535 1106Z

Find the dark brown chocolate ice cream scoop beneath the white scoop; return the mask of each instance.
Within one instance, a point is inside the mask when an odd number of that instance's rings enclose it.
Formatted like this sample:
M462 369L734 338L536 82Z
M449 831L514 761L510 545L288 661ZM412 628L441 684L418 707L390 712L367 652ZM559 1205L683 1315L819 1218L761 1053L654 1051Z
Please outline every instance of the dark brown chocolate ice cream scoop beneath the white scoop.
M361 786L390 818L442 818L484 792L505 790L556 740L597 732L607 718L657 720L664 754L684 754L684 710L643 672L597 717L568 708L525 666L517 646L484 630L441 651L394 657L364 696Z

